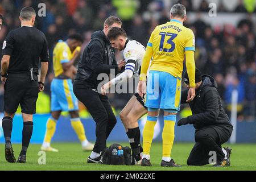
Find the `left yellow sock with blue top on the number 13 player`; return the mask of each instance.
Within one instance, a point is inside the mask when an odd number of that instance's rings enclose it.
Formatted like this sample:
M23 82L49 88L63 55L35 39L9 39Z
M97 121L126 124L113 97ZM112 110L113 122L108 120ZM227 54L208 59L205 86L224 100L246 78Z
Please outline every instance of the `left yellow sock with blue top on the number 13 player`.
M150 155L156 121L158 121L158 117L147 116L147 122L143 129L143 155Z

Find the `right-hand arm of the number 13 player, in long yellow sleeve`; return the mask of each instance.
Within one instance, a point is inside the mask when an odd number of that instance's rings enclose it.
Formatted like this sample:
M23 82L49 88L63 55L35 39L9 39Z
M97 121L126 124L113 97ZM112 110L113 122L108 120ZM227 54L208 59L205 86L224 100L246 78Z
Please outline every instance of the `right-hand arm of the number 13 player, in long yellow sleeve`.
M186 57L186 67L189 78L189 90L188 97L186 102L191 102L196 96L195 90L195 72L196 72L196 64L195 64L195 35L192 30L189 32L189 36L185 43L185 57Z

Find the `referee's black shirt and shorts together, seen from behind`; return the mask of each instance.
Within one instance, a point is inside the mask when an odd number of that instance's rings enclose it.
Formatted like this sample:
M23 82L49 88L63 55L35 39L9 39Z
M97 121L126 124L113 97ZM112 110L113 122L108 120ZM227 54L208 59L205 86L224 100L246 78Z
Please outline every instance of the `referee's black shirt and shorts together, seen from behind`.
M11 56L5 83L4 110L14 114L20 104L22 113L34 114L39 92L39 62L49 61L46 36L34 27L23 26L12 30L3 42L2 54Z

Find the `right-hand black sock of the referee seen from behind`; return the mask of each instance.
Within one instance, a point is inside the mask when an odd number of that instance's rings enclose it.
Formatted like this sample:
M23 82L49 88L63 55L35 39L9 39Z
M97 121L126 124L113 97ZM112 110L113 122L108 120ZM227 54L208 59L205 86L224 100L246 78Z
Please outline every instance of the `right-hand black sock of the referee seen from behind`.
M19 155L27 155L27 148L30 144L30 139L33 133L33 122L28 121L23 123L22 130L22 151Z

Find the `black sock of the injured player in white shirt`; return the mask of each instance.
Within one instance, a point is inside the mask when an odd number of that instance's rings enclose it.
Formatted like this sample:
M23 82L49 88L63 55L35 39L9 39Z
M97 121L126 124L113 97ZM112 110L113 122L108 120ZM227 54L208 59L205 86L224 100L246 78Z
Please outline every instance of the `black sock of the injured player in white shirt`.
M135 160L141 160L141 130L139 130L139 127L128 129L127 135Z

